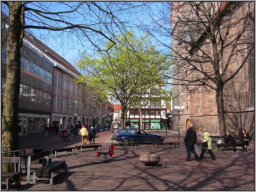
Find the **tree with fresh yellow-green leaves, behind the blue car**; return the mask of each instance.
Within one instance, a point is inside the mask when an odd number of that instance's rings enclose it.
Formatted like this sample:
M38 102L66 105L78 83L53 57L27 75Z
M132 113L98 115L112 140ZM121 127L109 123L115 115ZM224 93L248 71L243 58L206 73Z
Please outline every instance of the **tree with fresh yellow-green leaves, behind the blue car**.
M168 57L160 55L148 37L137 38L135 33L119 35L116 45L109 42L108 53L97 55L98 59L85 57L88 73L95 76L106 92L120 102L121 128L126 127L126 114L141 87L163 82L163 73L169 69ZM141 89L143 90L143 89ZM145 90L146 91L146 90Z

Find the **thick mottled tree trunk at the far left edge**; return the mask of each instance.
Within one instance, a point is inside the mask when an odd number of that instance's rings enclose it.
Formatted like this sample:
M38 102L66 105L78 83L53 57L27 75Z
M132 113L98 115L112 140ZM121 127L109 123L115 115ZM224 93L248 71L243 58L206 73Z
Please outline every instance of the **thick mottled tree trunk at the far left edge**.
M7 77L4 91L2 116L2 152L19 149L19 93L20 93L20 47L21 2L9 2L10 24L7 35ZM12 153L3 156L11 156ZM10 165L2 166L2 171L12 171Z

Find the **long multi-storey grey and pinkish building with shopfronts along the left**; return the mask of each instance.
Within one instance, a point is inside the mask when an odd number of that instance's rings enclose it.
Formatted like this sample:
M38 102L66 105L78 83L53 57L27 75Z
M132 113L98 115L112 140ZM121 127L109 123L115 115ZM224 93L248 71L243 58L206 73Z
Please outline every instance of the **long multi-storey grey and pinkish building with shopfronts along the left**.
M5 25L7 30L8 24ZM2 39L5 39L6 33L2 32L1 35ZM2 45L4 45L1 49L1 94L3 98L7 75L6 42L2 42ZM85 122L82 122L81 97L78 85L74 83L74 79L81 74L76 68L28 32L25 32L20 60L20 123L17 125L19 135L41 132L47 124L58 125L60 129L70 124L92 125L92 95L87 97L84 110ZM107 103L107 105L110 106L109 108L107 106L107 113L105 113L108 120L112 117L112 113L109 115L111 104ZM3 100L1 100L1 111L3 111Z

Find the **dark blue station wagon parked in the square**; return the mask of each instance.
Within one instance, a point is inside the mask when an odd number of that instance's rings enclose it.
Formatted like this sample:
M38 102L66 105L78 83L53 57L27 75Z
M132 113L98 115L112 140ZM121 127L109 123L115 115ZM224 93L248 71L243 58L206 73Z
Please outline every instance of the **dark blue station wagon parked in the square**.
M116 141L122 143L159 143L164 137L158 134L151 134L142 129L121 129L116 133Z

